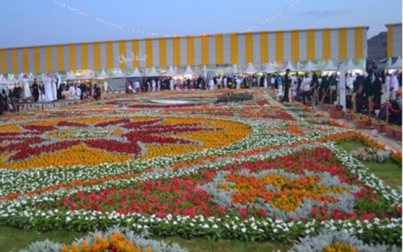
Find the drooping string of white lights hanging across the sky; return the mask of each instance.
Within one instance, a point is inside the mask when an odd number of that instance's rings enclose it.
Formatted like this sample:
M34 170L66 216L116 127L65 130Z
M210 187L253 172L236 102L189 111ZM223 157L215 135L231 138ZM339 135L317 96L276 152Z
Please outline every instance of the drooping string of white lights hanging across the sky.
M115 28L119 28L119 29L124 29L124 30L131 31L131 32L136 32L136 33L139 33L139 34L145 34L145 35L148 35L148 36L157 36L157 37L224 36L224 37L225 37L225 36L231 35L231 33L224 33L224 34L198 34L198 35L186 35L186 36L184 36L184 35L168 35L168 34L160 34L160 33L157 33L157 32L148 32L148 31L143 31L143 30L139 30L139 29L133 29L133 28L130 28L130 27L126 27L126 26L124 26L124 25L120 25L120 24L117 24L117 23L114 23L114 22L110 22L110 21L107 21L107 20L102 19L102 18L99 18L99 17L93 17L93 16L91 16L90 14L88 14L88 13L86 13L86 12L84 12L84 11L78 9L78 8L74 8L74 7L72 7L72 6L69 6L68 4L62 3L62 2L57 1L57 0L50 0L50 1L53 2L53 3L55 3L55 4L57 4L57 5L59 5L60 7L63 7L63 8L65 8L65 9L68 9L68 10L72 11L72 12L78 13L79 15L82 15L82 16L84 16L84 17L86 17L86 18L93 19L93 20L95 20L95 21L97 21L97 22L99 22L99 23L101 23L101 24L109 25L109 26L111 26L111 27L115 27ZM259 24L256 24L256 25L254 25L254 26L252 26L252 27L250 27L250 28L248 28L248 29L246 29L246 30L240 31L240 32L238 32L238 33L243 33L243 32L247 32L247 31L253 30L253 29L257 28L257 27L260 26L260 25L263 25L263 24L265 24L265 23L267 23L267 22L272 21L273 19L275 19L275 18L279 17L280 15L282 15L283 12L286 11L287 9L293 7L293 6L294 6L295 4L297 4L298 2L299 2L299 0L294 0L293 3L291 3L290 5L288 5L287 7L285 7L285 8L284 8L283 10L281 10L280 12L277 12L277 13L275 13L273 16L266 18L265 20L263 20L263 21L260 22Z

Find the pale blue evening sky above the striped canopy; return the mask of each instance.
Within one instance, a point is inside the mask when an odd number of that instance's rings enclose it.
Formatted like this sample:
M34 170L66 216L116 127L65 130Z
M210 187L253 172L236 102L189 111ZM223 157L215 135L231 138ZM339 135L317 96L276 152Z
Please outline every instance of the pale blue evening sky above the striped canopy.
M0 0L0 48L155 37L112 27L167 35L240 32L295 0ZM369 26L368 38L400 23L401 0L299 0L251 31Z

